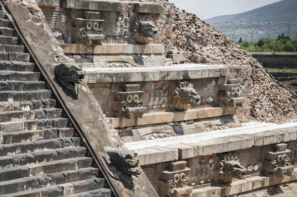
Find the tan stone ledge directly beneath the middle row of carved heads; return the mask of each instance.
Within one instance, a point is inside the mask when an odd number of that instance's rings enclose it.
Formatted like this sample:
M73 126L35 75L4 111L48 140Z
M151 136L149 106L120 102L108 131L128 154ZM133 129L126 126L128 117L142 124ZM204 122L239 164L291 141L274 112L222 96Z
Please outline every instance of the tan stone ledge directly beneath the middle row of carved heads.
M176 112L146 113L143 118L107 118L114 128L196 120L234 114L232 107L209 107Z

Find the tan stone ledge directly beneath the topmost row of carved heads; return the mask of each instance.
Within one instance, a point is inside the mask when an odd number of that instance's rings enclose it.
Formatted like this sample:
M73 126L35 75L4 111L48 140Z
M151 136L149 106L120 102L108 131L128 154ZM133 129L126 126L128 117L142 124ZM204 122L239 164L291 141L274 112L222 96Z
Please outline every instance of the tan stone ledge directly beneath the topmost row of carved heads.
M60 44L64 53L93 54L93 47L76 44ZM158 54L165 51L164 45L104 44L94 46L94 54Z

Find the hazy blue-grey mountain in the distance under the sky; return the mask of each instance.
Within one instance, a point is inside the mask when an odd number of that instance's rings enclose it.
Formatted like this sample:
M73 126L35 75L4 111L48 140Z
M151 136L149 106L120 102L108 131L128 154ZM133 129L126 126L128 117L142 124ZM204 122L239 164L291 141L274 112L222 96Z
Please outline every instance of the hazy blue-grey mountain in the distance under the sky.
M297 34L297 0L281 0L247 12L216 16L205 20L231 40L276 38L279 34ZM290 28L289 28L290 26Z

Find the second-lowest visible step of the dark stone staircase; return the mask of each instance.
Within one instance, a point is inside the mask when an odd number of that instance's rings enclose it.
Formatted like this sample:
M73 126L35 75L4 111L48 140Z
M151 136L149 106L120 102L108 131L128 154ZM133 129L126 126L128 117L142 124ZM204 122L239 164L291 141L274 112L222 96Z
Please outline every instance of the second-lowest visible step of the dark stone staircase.
M109 189L103 189L105 180L101 178L86 179L66 184L45 187L42 189L28 190L19 193L5 195L5 197L63 197L93 190L101 190L101 193L108 193ZM105 192L106 191L106 192ZM68 197L68 196L67 196ZM96 196L109 197L109 196Z

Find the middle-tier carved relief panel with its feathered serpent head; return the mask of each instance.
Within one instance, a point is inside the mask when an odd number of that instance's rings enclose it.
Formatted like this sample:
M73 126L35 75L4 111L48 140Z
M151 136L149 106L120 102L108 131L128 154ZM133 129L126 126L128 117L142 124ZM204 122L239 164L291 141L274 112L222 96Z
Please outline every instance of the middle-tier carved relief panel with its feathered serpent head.
M89 81L92 77L93 75L88 75ZM94 75L95 81L97 77ZM140 116L143 113L217 107L219 90L217 80L218 78L207 78L188 81L139 82L138 85L142 91L137 91L137 94L139 94L139 104L144 107L141 109ZM121 101L125 100L121 97L128 94L124 93L125 85L125 83L89 84L96 99L104 106L102 110L107 117L124 117L117 107Z

